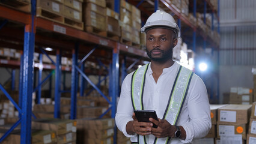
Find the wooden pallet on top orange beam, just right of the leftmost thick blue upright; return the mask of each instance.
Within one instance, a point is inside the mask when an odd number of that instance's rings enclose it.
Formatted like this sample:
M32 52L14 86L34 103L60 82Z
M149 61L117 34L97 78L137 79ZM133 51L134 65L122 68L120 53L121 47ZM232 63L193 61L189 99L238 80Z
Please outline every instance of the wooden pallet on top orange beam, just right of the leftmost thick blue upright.
M44 19L51 20L53 22L64 23L64 17L61 14L54 13L44 8L37 8L37 17L43 17Z

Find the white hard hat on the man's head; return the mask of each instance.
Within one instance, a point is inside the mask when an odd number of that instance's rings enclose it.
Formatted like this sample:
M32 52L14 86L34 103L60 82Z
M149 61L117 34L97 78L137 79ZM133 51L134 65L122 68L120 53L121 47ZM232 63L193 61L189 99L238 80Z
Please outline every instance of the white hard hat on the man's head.
M171 14L165 11L157 10L155 13L148 17L146 24L141 28L141 32L144 33L145 29L155 27L155 26L165 26L172 29L175 32L175 36L180 37L180 28L178 28L177 23Z

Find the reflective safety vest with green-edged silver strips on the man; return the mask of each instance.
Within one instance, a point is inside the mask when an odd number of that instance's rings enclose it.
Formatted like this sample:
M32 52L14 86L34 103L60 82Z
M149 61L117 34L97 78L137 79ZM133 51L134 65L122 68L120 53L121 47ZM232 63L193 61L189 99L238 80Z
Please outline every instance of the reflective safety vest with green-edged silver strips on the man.
M144 110L143 92L145 86L146 73L148 65L138 68L132 75L131 82L131 98L133 110ZM193 76L193 72L189 69L180 66L177 76L175 77L174 85L172 86L171 94L169 95L168 104L165 109L165 114L162 119L166 119L171 125L176 125L184 101L186 100L189 84ZM169 143L171 137L155 138L154 144ZM134 142L133 142L134 143ZM146 144L146 137L138 135L138 144Z

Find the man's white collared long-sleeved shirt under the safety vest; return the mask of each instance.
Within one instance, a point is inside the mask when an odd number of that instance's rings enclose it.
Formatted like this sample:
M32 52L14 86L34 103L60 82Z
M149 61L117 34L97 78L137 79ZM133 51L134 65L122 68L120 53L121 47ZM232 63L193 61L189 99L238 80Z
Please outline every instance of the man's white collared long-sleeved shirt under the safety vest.
M157 83L155 82L151 70L151 63L148 65L146 73L145 87L143 94L143 105L145 110L155 110L158 118L162 119L171 94L172 85L178 73L179 64L174 64L169 68L164 68ZM130 137L132 142L137 142L137 136L129 135L126 132L126 124L133 121L133 107L130 96L130 85L132 74L126 76L121 86L120 100L118 101L115 122L120 131L125 136ZM172 139L171 144L190 143L194 138L200 138L207 135L212 122L210 118L210 106L207 96L206 86L196 74L193 75L186 100L181 109L180 118L177 125L183 126L186 131L186 139ZM147 135L147 143L154 142L152 134Z

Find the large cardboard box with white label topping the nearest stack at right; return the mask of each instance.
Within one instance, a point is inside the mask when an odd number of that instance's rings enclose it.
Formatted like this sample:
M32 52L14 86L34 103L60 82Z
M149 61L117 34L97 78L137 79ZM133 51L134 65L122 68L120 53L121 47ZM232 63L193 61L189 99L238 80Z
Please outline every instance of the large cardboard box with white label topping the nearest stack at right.
M251 115L251 105L227 104L218 109L218 121L247 124Z

